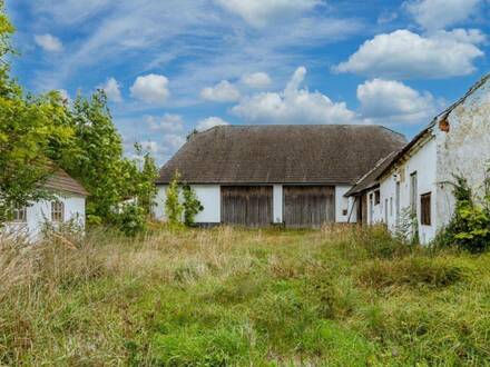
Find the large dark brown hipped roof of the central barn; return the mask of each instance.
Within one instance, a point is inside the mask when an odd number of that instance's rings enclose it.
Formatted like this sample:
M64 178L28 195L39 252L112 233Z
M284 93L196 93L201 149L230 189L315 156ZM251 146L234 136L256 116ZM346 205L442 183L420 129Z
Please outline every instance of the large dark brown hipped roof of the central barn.
M405 145L367 125L222 126L194 135L160 169L187 184L354 184Z

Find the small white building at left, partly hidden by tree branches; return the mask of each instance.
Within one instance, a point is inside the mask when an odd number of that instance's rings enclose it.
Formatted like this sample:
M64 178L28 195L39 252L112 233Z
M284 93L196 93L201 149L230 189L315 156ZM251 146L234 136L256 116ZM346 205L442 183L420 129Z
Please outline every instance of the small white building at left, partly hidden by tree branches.
M88 192L85 188L58 169L45 184L53 198L39 200L13 210L13 220L2 229L4 234L23 236L32 241L40 239L47 224L59 226L70 222L85 228L85 204Z

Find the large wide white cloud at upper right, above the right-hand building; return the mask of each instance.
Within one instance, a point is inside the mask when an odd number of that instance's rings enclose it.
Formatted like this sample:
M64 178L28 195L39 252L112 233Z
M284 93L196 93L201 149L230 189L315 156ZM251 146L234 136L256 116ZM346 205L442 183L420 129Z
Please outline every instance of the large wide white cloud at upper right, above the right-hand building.
M474 44L482 38L474 30L438 32L431 37L398 30L365 41L334 70L386 79L464 76L476 70L474 60L483 56Z

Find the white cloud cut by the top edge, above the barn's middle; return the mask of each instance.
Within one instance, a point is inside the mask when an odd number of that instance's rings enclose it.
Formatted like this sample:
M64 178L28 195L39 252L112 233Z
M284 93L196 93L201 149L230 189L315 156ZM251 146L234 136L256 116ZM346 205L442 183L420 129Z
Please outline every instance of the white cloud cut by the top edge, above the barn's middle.
M321 3L320 0L215 0L224 9L241 16L253 27L297 17Z

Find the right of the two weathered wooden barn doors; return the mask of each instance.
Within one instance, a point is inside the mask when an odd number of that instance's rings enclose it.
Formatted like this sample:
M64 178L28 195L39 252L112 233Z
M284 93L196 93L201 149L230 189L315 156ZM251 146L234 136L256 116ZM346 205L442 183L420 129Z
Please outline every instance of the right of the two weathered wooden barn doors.
M333 186L284 186L284 222L292 228L335 221Z

